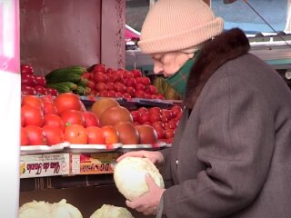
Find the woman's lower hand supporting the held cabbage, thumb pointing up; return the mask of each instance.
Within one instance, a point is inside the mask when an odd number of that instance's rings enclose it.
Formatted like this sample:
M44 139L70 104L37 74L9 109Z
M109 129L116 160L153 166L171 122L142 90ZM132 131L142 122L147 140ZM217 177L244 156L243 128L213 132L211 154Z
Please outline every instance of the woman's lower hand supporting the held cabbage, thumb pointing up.
M148 192L144 193L135 201L126 201L126 205L140 213L145 215L156 214L162 194L165 189L158 187L149 173L146 173L146 183L148 186Z

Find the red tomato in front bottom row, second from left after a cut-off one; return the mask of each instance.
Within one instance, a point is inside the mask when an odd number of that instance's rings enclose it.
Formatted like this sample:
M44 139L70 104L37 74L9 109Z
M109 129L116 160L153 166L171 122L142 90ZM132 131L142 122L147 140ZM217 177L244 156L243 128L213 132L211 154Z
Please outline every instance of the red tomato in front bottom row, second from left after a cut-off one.
M25 130L27 131L30 145L46 144L45 133L42 127L37 125L27 125L25 126Z

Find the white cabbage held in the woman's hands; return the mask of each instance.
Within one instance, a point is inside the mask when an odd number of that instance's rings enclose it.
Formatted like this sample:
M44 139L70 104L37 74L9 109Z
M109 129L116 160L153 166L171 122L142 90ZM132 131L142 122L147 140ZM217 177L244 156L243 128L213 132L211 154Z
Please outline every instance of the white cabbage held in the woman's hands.
M161 173L149 159L125 157L115 165L114 180L118 191L130 201L147 193L146 173L153 177L157 186L165 187Z

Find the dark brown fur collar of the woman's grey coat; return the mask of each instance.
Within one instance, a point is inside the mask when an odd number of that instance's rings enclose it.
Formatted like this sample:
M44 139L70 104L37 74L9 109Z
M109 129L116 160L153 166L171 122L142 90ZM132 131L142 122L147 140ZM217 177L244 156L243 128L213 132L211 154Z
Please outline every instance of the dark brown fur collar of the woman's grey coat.
M216 36L201 50L186 84L184 104L192 109L204 85L212 74L228 60L246 54L250 48L245 33L232 29Z

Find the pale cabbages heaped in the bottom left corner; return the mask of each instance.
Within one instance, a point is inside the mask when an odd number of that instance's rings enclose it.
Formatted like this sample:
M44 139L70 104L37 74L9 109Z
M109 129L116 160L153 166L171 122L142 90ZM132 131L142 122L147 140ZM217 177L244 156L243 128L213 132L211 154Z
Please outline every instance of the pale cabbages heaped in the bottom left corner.
M19 208L19 218L83 218L80 211L62 199L59 203L30 202Z

